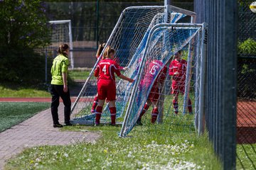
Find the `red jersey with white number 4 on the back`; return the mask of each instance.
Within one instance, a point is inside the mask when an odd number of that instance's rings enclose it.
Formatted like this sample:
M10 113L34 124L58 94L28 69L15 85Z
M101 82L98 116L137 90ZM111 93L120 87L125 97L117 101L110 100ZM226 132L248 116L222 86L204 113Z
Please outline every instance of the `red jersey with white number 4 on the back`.
M100 75L99 79L115 81L114 73L119 77L119 65L111 59L101 60L95 69L95 77Z

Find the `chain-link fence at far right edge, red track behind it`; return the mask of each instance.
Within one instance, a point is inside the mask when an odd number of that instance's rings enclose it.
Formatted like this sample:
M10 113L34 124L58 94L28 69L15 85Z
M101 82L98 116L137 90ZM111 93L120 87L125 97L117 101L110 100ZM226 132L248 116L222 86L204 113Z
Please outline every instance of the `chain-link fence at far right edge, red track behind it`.
M256 169L256 13L238 1L237 169Z

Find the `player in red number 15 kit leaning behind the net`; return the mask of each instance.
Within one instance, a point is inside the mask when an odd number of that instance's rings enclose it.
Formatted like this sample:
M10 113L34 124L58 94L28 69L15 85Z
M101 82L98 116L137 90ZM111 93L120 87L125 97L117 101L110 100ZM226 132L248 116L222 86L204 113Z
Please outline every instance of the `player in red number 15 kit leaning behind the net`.
M151 61L146 68L144 79L141 81L141 86L146 86L149 88L152 81L154 81L154 78L156 77L156 74L159 72L161 67L163 67L163 62L160 60L153 60ZM151 91L149 92L149 96L146 99L146 104L144 105L144 108L142 110L142 113L139 115L139 119L137 120L137 125L142 125L142 116L146 111L149 109L149 106L153 104L153 110L151 112L151 123L156 122L157 115L159 113L159 108L157 107L157 102L159 101L159 87L164 86L164 81L166 79L167 74L167 67L164 66L161 71L159 72L159 75L156 77L154 84L151 88Z

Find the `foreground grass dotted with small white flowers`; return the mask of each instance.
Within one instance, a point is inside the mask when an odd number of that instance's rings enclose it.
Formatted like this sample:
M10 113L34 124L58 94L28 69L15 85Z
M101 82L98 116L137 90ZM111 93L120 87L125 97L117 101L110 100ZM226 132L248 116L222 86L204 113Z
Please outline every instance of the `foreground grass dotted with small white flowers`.
M6 169L221 169L207 135L171 132L167 137L134 130L121 138L120 128L109 125L63 130L98 132L102 137L96 143L25 149Z

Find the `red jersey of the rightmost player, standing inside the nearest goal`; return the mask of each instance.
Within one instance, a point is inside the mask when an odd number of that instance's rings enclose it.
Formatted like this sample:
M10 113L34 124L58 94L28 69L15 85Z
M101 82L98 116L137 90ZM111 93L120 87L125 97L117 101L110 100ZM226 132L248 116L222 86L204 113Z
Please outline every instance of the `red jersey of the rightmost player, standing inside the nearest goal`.
M169 75L173 76L173 79L175 80L185 80L186 79L186 60L181 59L173 60L171 61L170 67L169 67ZM178 72L178 74L174 75L175 72Z

